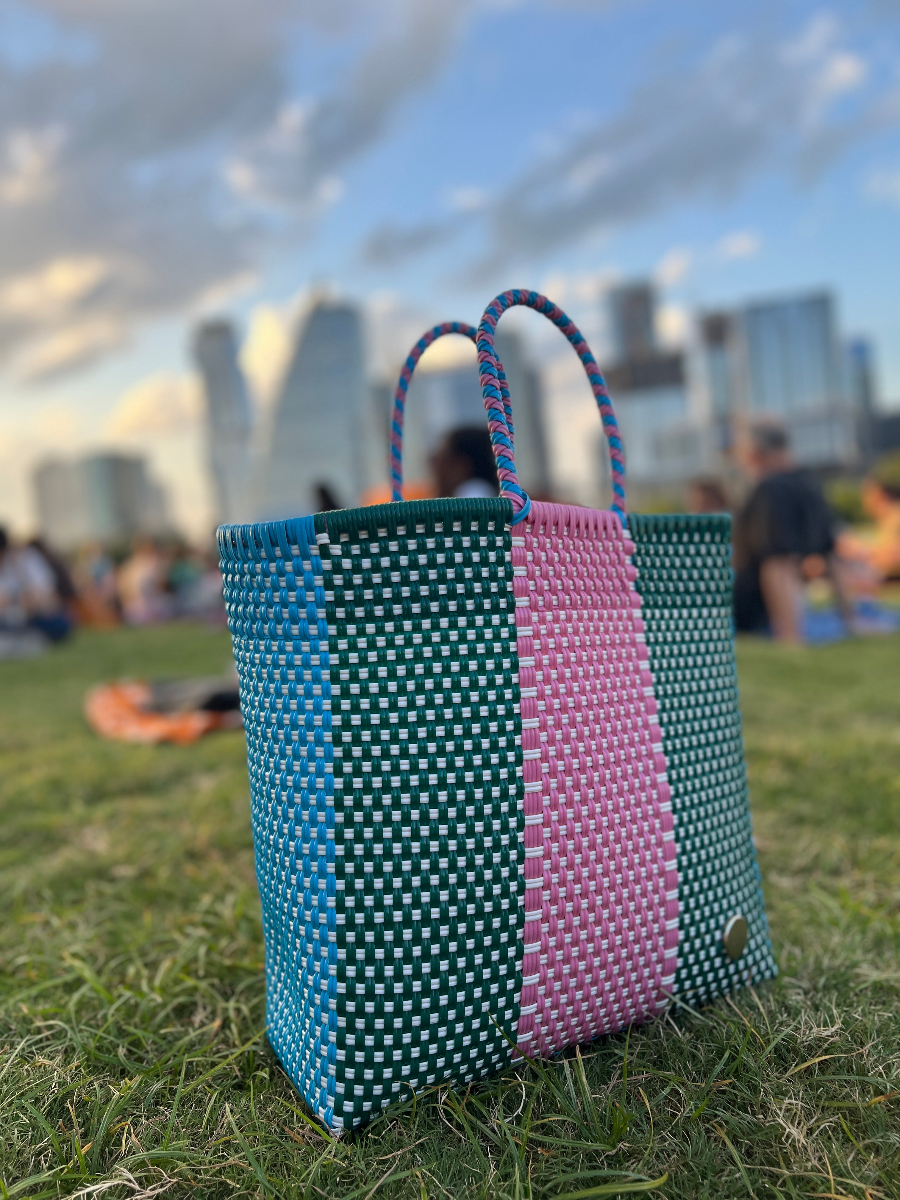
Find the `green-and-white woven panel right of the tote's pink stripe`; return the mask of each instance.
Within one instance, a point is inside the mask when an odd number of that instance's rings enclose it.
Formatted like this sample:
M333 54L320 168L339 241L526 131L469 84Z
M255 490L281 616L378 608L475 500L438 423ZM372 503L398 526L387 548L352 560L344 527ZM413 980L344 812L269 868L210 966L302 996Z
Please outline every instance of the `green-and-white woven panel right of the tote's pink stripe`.
M680 941L676 995L714 1000L776 973L750 830L732 632L731 518L631 516L672 788ZM730 917L746 949L725 953Z

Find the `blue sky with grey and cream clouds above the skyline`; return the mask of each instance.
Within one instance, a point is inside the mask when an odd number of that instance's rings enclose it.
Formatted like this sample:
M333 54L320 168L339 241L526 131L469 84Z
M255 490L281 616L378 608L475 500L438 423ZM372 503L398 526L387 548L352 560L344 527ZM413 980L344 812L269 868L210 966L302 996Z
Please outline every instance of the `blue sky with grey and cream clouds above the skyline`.
M899 246L896 0L0 0L0 521L120 445L203 528L191 325L265 403L323 284L379 372L510 286L600 350L617 277L673 340L827 286L900 403Z

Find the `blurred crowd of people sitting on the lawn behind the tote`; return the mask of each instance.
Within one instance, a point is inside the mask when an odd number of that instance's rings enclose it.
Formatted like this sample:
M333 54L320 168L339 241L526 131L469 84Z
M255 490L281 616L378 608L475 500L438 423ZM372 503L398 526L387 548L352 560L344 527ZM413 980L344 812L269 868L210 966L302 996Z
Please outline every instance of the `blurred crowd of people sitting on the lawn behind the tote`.
M738 439L734 462L749 491L733 526L734 624L739 632L804 640L806 584L830 586L847 632L863 631L856 602L900 581L900 452L878 461L860 498L871 524L838 529L818 480L791 456L782 426L760 420ZM431 458L437 496L496 496L487 431L452 430ZM323 509L337 503L320 488ZM731 508L719 479L694 480L691 512ZM0 658L36 653L77 624L146 625L175 617L223 619L222 580L208 554L142 536L116 562L98 544L64 559L41 539L16 545L0 528Z

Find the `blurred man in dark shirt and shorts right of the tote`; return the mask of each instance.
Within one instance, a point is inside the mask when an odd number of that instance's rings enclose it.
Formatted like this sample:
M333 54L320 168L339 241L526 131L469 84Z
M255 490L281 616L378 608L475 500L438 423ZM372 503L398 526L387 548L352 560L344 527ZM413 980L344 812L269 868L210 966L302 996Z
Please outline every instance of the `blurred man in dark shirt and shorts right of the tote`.
M734 623L803 642L804 563L826 564L838 607L852 626L834 557L832 511L822 488L791 455L787 431L774 421L748 426L738 461L754 488L734 522Z

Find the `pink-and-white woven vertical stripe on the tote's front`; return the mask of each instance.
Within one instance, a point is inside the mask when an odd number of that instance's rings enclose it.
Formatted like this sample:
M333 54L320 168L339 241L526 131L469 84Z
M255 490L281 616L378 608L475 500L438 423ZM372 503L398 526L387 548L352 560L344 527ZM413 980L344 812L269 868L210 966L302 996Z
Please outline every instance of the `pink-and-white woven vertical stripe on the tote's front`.
M534 503L514 532L524 1055L647 1020L674 978L672 805L632 550L592 509Z

